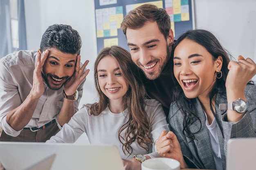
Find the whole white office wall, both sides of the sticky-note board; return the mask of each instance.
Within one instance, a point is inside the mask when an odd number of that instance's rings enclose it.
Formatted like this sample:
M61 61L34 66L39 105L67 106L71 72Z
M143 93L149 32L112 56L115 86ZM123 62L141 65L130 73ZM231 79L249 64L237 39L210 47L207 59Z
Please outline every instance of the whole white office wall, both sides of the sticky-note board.
M256 61L256 0L194 0L195 26L214 33L237 59L238 55ZM51 24L70 24L79 31L81 57L90 60L90 73L84 85L84 103L97 101L93 64L97 57L93 0L25 0L27 46L38 49L45 29Z

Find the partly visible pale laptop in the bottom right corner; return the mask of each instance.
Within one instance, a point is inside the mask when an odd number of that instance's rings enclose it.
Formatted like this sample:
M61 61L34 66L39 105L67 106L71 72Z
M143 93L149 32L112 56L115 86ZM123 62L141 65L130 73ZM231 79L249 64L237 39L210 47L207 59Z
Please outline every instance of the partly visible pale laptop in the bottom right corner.
M256 137L229 139L227 170L256 169Z

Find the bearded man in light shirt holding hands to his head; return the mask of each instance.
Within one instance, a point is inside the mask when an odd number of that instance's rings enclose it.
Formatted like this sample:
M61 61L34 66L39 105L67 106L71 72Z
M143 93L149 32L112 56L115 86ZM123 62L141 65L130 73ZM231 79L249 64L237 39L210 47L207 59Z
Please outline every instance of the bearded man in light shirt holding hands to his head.
M0 60L0 141L45 142L78 111L89 70L81 64L81 37L54 24L38 51Z

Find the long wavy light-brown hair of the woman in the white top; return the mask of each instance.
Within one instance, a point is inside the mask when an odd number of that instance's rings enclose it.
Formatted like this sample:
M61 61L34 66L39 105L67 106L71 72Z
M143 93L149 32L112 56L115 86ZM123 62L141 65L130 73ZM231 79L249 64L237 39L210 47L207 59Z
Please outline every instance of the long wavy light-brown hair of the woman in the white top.
M97 74L99 62L106 56L111 56L116 59L121 74L129 85L122 105L123 111L126 108L128 109L128 122L121 126L118 132L119 141L123 144L122 149L125 154L130 155L132 153L132 147L130 145L137 140L139 146L148 151L153 144L153 140L150 138L151 127L144 109L144 85L139 77L139 70L130 57L130 53L120 46L104 48L95 61L94 83L99 95L99 102L91 106L91 114L99 116L101 112L108 107L108 97L103 94L99 87ZM125 137L121 136L122 131L125 132Z

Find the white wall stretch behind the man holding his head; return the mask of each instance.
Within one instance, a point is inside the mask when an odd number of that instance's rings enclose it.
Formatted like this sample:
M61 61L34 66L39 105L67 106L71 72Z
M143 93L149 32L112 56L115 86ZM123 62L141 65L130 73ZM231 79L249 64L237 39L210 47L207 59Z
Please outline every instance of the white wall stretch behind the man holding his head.
M52 24L68 24L76 29L82 39L81 61L89 60L90 72L84 85L79 108L97 101L94 88L93 65L97 57L94 17L94 0L25 0L27 47L40 48L43 33Z

